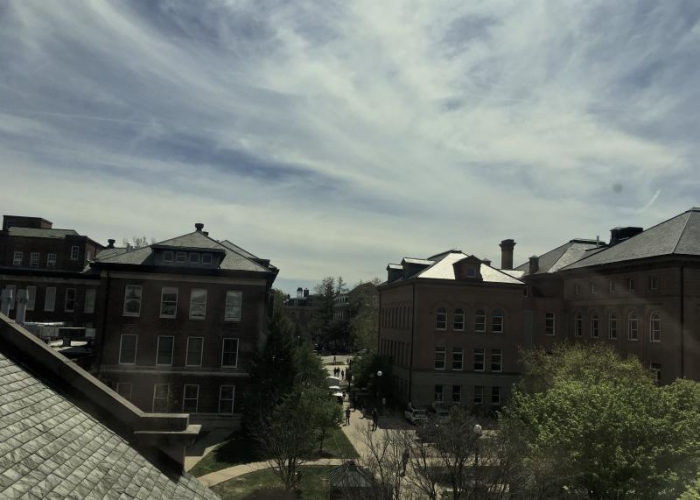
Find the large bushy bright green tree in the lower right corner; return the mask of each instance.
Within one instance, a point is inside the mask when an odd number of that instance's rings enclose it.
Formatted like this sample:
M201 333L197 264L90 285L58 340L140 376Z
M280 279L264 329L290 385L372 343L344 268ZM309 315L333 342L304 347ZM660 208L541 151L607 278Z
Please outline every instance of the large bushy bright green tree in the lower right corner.
M527 498L676 498L698 473L700 389L659 388L636 358L604 346L524 356L500 420L521 456L511 489ZM690 402L689 402L690 401Z

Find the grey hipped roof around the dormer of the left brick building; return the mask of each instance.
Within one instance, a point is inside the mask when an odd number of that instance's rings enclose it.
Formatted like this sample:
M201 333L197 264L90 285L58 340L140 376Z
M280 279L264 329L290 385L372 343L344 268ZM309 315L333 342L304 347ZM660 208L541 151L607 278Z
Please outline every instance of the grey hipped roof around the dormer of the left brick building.
M273 266L265 267L255 259L251 253L242 250L240 247L233 245L230 242L218 242L201 231L194 231L176 238L161 241L141 247L134 250L129 250L122 253L104 254L100 252L97 261L104 264L126 264L126 265L153 265L154 248L170 247L181 250L210 250L224 253L224 259L219 265L219 269L228 271L251 271L260 273L273 272ZM234 250L234 247L236 248ZM239 252L241 251L241 252ZM103 256L104 255L104 256ZM252 257L248 257L250 255Z

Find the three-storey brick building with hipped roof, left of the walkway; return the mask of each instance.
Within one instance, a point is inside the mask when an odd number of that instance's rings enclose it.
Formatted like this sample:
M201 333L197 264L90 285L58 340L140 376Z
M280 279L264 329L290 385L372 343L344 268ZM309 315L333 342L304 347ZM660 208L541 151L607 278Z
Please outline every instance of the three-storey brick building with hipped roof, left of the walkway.
M99 377L145 411L235 426L278 270L196 231L98 258Z

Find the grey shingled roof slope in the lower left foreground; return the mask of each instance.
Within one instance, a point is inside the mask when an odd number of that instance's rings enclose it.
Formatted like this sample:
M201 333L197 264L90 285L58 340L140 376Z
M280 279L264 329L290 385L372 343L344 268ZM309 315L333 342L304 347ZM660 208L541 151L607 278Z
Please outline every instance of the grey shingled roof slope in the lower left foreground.
M0 354L0 498L219 499Z

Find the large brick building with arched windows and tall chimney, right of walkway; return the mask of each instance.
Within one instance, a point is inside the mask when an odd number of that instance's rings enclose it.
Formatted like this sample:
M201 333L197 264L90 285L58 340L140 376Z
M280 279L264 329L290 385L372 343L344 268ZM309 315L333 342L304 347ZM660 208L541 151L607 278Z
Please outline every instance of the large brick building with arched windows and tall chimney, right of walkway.
M608 243L574 239L512 269L459 251L389 264L379 352L392 392L419 405L498 405L520 373L518 349L603 342L660 383L700 381L700 208Z

